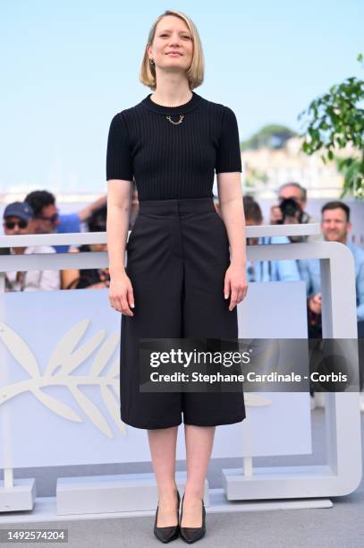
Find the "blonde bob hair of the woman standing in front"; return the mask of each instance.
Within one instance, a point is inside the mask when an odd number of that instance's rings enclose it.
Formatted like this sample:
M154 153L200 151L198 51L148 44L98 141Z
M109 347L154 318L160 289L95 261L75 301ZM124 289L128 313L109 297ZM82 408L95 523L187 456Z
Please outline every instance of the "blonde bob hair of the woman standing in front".
M165 15L174 15L174 17L179 17L186 23L188 29L190 30L190 36L193 44L193 54L192 63L190 64L190 68L186 72L186 75L189 79L190 90L193 90L194 88L199 87L204 80L204 55L201 41L199 39L199 31L197 30L195 23L190 20L190 17L187 17L187 15L182 12L174 12L173 10L166 10L165 13L159 15L157 20L153 23L152 28L149 30L148 42L140 67L140 81L153 91L157 88L156 65L150 64L147 47L153 44L157 24L165 17Z

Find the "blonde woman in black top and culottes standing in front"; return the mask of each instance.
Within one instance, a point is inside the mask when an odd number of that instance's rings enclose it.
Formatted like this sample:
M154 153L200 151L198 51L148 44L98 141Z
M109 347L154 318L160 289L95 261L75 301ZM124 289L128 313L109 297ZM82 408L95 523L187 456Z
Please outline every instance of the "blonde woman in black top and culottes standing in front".
M180 12L153 24L140 71L149 94L111 122L106 157L109 300L122 315L120 397L126 424L148 430L162 542L205 534L204 482L215 427L245 418L241 393L140 392L140 338L238 338L246 295L241 151L233 111L192 91L203 81L199 33ZM217 174L222 218L214 207ZM140 211L126 250L131 182ZM229 253L230 244L230 253ZM187 483L179 523L178 425Z

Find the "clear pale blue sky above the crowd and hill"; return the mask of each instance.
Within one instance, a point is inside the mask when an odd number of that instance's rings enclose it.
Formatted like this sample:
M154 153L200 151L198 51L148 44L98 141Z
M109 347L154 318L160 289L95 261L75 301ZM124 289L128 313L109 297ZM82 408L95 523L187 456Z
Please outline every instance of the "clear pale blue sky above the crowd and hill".
M313 98L364 77L362 0L0 0L1 192L106 191L109 124L151 92L140 62L165 9L197 24L206 73L196 92L233 108L241 140L265 124L299 130Z

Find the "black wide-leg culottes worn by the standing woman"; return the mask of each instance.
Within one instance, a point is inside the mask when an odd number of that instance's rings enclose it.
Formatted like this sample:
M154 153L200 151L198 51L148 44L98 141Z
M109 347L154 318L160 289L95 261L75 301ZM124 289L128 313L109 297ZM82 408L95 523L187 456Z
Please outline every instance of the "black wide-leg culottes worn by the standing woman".
M236 307L224 299L230 264L224 221L212 198L140 201L126 272L133 316L122 315L121 418L136 428L233 424L242 392L140 392L140 338L238 338Z

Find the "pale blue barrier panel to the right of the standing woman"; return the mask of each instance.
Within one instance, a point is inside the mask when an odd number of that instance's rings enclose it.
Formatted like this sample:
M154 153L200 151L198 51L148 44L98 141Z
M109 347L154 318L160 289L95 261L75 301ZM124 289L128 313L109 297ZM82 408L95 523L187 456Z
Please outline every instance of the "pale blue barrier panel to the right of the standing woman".
M307 338L304 283L250 283L238 305L238 319L239 338ZM216 428L213 458L312 451L309 393L247 392L244 401L247 417L242 423Z

